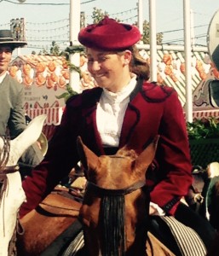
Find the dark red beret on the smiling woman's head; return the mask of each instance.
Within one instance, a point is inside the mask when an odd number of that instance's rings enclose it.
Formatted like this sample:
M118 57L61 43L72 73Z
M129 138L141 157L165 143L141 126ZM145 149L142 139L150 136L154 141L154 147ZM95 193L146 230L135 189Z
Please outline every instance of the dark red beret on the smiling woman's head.
M107 16L98 24L86 26L78 34L84 46L103 50L122 50L137 43L141 33L136 26L119 23Z

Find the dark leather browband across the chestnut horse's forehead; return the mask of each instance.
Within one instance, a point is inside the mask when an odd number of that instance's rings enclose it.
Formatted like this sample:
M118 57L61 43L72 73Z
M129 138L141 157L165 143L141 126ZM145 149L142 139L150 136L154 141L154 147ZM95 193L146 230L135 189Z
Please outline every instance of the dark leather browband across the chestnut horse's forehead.
M86 186L86 190L95 192L95 194L98 195L99 197L106 196L106 195L116 196L116 195L130 194L131 192L137 189L141 189L144 186L146 186L146 183L144 181L138 181L124 189L104 189L97 186L95 183L88 182Z

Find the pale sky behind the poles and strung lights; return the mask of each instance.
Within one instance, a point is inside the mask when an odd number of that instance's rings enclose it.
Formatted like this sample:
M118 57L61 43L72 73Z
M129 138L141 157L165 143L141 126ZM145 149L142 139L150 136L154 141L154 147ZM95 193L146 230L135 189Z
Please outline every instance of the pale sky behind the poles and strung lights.
M20 0L21 1L21 0ZM41 49L50 49L51 42L65 49L69 44L70 1L73 0L0 0L0 29L9 29L10 20L24 18L28 46L21 54L37 53ZM143 20L149 20L149 0L142 0ZM164 44L183 44L183 0L156 1L156 29L163 32ZM85 14L86 24L92 23L94 8L106 11L112 18L124 23L137 21L138 0L81 0L80 8ZM206 35L210 20L219 9L217 0L191 0L193 11L193 34L196 45L206 46Z

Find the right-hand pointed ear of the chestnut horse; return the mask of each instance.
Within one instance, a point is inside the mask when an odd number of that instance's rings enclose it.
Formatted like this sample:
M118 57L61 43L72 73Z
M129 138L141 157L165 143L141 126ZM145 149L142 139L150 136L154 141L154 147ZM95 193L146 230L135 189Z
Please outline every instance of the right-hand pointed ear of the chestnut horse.
M135 168L138 170L146 171L148 166L152 163L156 153L159 136L154 137L153 142L150 143L147 148L137 157L135 160Z

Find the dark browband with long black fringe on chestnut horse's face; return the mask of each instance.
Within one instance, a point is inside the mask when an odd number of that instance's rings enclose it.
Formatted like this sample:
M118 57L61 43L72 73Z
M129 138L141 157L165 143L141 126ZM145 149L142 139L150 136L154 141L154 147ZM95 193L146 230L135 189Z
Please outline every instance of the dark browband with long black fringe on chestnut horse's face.
M88 182L85 193L90 191L101 197L100 226L103 243L101 253L105 256L125 255L125 202L124 195L146 186L144 181L133 183L124 189L105 189Z

